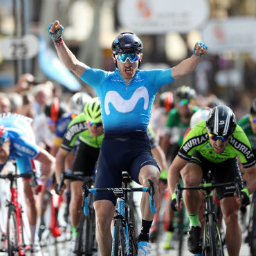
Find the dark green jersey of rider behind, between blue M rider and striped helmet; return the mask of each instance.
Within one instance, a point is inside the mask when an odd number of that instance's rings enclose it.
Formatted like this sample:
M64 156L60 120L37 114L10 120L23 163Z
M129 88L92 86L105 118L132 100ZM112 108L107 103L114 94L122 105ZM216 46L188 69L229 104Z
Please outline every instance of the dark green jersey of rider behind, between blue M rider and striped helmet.
M199 107L194 106L192 114L199 110ZM190 127L190 122L184 124L181 122L181 118L178 109L174 108L168 113L167 122L165 125L165 134L167 136L174 136L176 143L181 146L183 143L183 136Z

